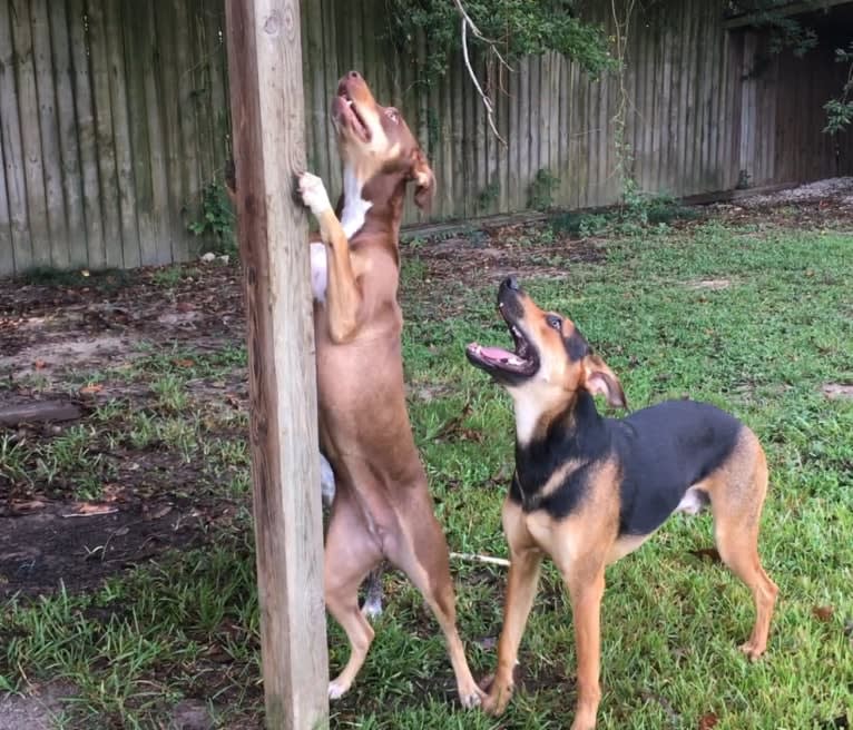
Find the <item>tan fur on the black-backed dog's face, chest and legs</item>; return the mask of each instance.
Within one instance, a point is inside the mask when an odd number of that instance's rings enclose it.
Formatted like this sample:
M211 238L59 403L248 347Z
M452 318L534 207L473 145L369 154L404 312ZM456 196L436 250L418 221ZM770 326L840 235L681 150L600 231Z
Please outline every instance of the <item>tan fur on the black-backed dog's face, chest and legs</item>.
M516 405L517 442L524 446L545 434L555 414L565 413L567 404L585 388L600 393L612 405L624 405L625 395L616 375L605 362L591 353L571 361L563 337L572 334L573 324L566 319L561 332L547 324L542 312L527 295L517 295L523 317L520 327L536 347L538 372L520 384L507 386ZM578 467L570 458L548 477L545 485L530 485L550 494ZM619 465L605 462L590 477L588 493L567 517L555 519L545 510L524 513L520 505L503 504L503 531L510 551L504 620L498 644L498 667L487 711L499 714L512 694L512 669L518 648L536 594L542 558L549 555L568 589L578 658L578 699L571 730L591 730L601 698L599 688L600 605L605 589L605 568L639 548L651 535L618 536ZM773 606L778 589L764 572L757 552L758 521L767 491L767 463L755 435L743 427L742 435L725 464L700 484L714 513L715 537L723 561L751 589L756 606L756 621L749 640L742 650L756 659L767 645ZM539 493L537 493L538 495Z

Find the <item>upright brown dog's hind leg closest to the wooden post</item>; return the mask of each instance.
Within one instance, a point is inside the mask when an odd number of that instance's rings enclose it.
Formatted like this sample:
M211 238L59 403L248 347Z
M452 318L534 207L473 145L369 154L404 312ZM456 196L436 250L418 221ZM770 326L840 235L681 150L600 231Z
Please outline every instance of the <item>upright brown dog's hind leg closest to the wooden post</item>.
M339 496L326 533L324 582L326 608L346 632L350 660L329 683L330 699L341 697L353 683L373 641L373 628L359 609L359 586L382 559L357 510Z

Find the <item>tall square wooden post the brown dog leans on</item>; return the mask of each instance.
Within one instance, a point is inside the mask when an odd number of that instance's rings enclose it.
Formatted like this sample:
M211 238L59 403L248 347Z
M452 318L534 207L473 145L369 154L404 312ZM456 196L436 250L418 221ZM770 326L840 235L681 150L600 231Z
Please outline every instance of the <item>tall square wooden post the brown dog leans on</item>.
M266 727L329 723L298 0L227 0Z

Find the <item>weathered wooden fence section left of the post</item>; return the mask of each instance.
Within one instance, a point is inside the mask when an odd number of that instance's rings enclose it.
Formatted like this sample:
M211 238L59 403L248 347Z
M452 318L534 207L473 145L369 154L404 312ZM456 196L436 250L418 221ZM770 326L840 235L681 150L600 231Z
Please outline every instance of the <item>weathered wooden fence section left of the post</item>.
M220 3L0 0L0 275L186 259L222 177Z

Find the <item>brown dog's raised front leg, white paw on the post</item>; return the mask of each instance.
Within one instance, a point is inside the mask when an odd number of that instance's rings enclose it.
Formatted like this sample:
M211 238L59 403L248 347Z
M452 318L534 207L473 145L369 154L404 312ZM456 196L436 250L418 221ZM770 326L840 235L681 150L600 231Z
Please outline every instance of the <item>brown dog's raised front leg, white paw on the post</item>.
M346 343L359 332L363 302L350 255L350 241L332 208L323 180L311 172L303 172L300 176L300 195L320 224L320 236L326 249L329 336L335 344Z

